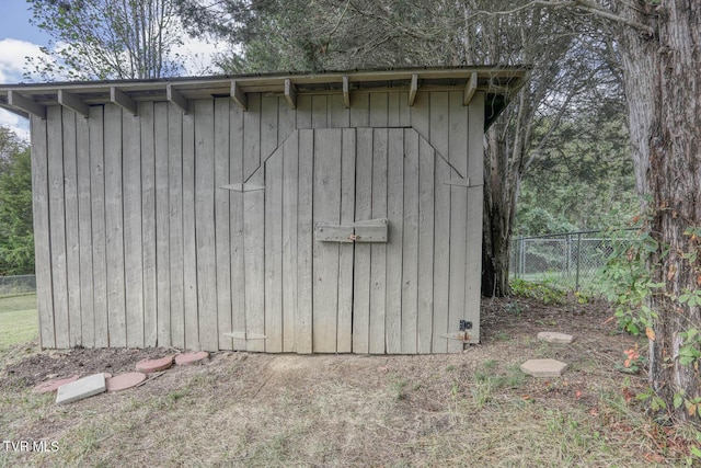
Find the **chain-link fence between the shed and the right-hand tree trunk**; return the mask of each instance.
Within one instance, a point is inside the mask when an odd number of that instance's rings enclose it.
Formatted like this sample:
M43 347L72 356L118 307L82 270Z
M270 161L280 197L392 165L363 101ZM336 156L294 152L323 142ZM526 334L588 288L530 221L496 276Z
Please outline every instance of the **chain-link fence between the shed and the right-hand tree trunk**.
M512 243L509 274L566 289L591 290L613 242L625 240L612 240L598 230L519 237Z

